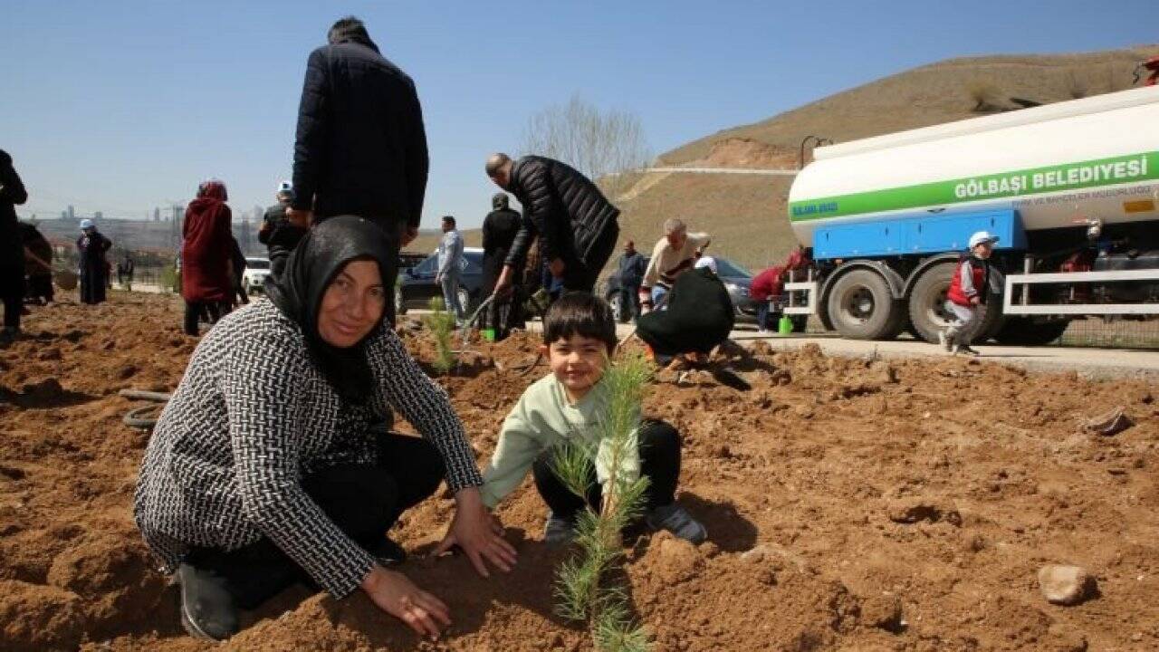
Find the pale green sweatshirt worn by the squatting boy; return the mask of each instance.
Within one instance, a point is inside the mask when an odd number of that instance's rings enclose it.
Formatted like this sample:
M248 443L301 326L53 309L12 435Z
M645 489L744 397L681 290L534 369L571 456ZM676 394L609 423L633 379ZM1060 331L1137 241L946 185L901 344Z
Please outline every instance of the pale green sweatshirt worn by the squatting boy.
M503 421L495 452L483 469L483 504L495 507L519 486L537 457L566 440L596 450L596 479L604 485L611 470L611 451L607 442L599 439L597 426L606 410L606 394L602 381L580 403L571 405L554 374L527 387ZM632 437L620 462L620 477L628 481L640 476L635 433Z

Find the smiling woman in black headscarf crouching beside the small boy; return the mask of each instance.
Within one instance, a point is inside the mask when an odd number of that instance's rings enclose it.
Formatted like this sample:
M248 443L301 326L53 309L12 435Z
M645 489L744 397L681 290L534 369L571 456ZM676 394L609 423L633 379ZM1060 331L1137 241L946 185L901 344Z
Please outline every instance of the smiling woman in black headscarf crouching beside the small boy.
M357 217L302 238L258 299L198 343L158 421L134 514L177 573L182 623L223 639L253 608L305 579L338 597L362 588L416 632L435 637L446 607L385 566L404 552L386 538L403 509L445 476L458 502L444 545L483 575L515 550L479 497L462 425L384 326L388 245ZM399 410L423 437L372 425Z

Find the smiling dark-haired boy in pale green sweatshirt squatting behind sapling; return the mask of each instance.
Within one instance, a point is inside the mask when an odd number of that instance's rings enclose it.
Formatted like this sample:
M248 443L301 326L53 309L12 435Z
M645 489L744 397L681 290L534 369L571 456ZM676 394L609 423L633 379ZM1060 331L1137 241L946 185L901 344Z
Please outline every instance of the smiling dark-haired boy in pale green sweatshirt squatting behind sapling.
M532 471L535 488L551 512L544 539L548 544L569 542L576 516L588 505L599 509L608 471L604 444L597 442L596 426L607 396L600 379L615 348L615 321L603 299L586 292L563 295L552 304L544 320L544 346L552 372L519 397L500 434L498 444L483 470L483 502L495 507L515 491ZM585 499L573 494L552 470L555 445L580 440L597 450ZM649 479L644 522L654 529L700 543L705 527L676 504L680 474L680 436L663 421L642 421L636 433L637 455L628 456L620 472L628 478L643 473Z

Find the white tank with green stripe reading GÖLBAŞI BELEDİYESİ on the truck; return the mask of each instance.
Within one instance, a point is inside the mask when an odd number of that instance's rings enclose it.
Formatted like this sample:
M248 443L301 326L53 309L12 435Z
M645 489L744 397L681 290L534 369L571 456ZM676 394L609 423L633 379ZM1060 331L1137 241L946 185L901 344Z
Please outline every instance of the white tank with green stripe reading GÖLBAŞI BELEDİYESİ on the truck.
M1019 210L1028 231L1159 219L1159 87L866 138L814 152L789 220L818 225Z

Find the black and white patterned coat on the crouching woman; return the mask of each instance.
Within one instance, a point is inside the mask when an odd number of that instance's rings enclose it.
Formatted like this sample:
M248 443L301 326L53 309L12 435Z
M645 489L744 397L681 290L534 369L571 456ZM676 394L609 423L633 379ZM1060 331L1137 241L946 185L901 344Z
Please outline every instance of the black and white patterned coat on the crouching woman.
M372 463L367 427L393 407L443 456L452 490L482 484L446 393L382 328L366 346L378 391L352 406L309 362L301 329L269 299L219 321L198 343L141 465L137 526L172 572L189 546L234 550L269 537L323 588L344 596L373 558L299 480L336 463Z

